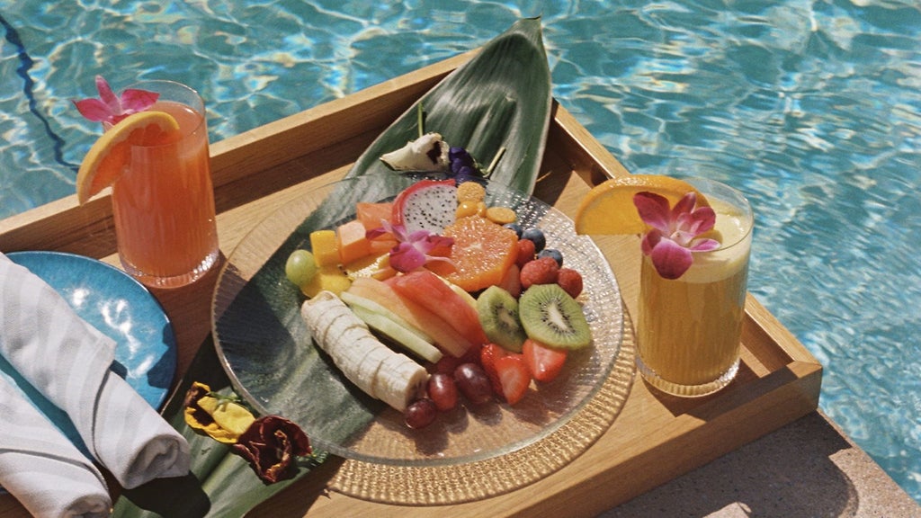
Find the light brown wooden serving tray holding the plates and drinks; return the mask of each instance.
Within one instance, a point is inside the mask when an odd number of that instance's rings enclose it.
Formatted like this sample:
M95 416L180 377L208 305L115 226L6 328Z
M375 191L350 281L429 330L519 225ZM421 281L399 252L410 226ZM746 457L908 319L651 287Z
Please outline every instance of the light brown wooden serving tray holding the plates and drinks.
M462 54L341 100L322 104L212 146L221 249L229 254L275 207L340 178L371 140L438 80L464 63ZM575 213L591 185L624 167L554 103L542 176L535 193ZM597 240L621 285L628 314L638 292L636 238ZM108 196L77 206L70 196L0 221L0 251L59 250L118 265ZM179 373L210 333L216 275L187 288L156 290L176 328ZM342 467L331 459L310 477L264 502L251 516L592 516L804 416L818 406L822 366L749 296L742 367L722 392L694 400L654 394L639 380L613 426L586 453L522 489L450 506L373 503L331 492ZM27 516L0 497L0 515Z

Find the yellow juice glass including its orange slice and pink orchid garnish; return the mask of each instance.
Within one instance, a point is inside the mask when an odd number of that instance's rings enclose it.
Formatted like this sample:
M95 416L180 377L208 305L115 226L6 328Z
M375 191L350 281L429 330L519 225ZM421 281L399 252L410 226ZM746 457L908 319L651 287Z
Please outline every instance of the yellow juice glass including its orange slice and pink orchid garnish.
M579 234L643 236L636 366L647 383L684 396L729 384L752 249L745 196L704 178L627 174L593 187L575 223Z

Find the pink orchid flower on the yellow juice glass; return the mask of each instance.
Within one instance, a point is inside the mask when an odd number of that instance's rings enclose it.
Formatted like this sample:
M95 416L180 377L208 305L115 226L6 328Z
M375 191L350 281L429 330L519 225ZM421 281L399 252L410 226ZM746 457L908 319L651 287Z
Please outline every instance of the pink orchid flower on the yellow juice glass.
M717 214L708 206L696 206L697 195L684 194L674 207L669 200L655 193L634 195L639 217L652 227L643 236L643 253L652 258L659 275L668 279L682 277L694 262L692 252L719 248L719 241L698 238L713 229Z

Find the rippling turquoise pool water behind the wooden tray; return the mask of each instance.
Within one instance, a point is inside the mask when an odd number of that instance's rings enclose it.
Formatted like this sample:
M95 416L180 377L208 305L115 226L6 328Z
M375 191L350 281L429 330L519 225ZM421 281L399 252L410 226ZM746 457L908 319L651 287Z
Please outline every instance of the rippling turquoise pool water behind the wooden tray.
M165 6L161 6L165 4ZM0 0L0 218L74 192L71 99L163 77L213 141L542 15L554 96L630 171L757 212L750 288L822 361L822 409L921 501L915 0Z

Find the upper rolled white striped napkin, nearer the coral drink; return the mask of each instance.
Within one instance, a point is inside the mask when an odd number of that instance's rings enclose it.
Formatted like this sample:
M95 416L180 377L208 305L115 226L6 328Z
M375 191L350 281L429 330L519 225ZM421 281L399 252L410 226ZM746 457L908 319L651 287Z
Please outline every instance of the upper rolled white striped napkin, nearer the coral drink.
M0 253L0 354L67 413L122 487L187 474L188 442L110 371L114 349L41 278Z

